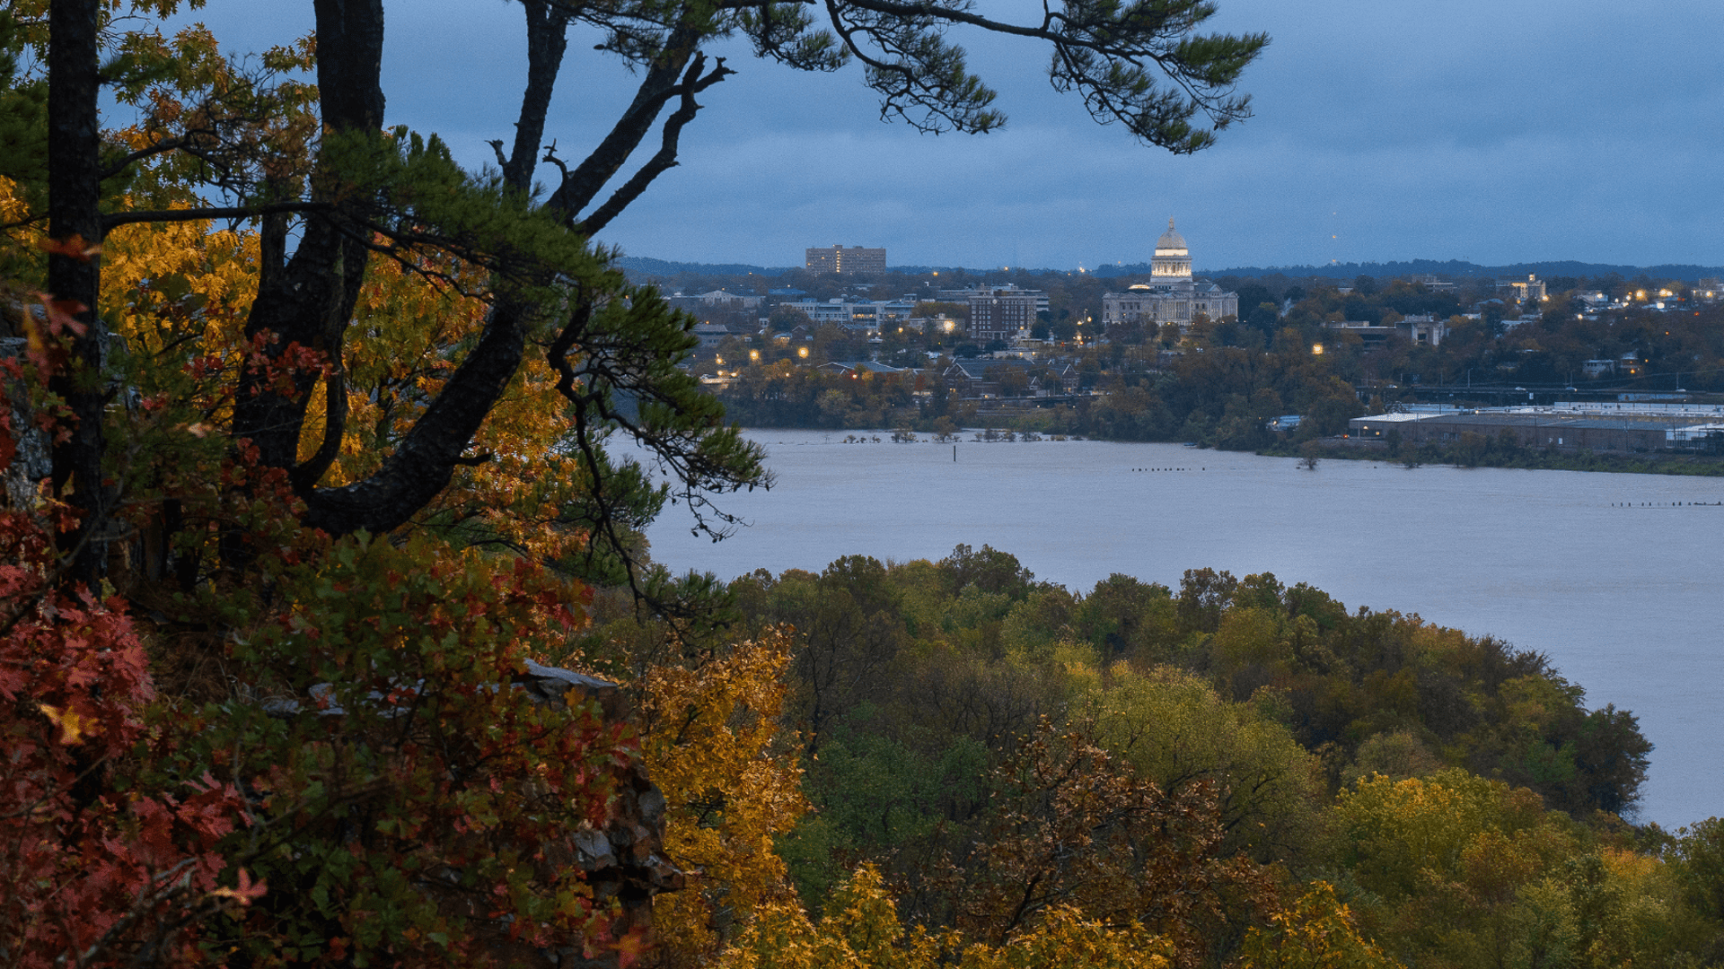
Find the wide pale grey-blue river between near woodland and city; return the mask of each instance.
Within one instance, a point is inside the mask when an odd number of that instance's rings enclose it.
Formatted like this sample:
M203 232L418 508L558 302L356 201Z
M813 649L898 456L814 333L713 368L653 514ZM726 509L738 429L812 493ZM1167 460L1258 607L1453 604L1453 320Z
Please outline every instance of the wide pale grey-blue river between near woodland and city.
M1724 816L1724 478L748 436L778 483L719 505L750 524L712 543L669 507L648 533L659 562L729 579L986 543L1072 591L1112 572L1171 588L1186 569L1274 572L1550 655L1588 707L1633 710L1655 743L1641 821Z

